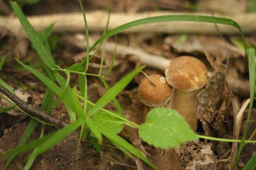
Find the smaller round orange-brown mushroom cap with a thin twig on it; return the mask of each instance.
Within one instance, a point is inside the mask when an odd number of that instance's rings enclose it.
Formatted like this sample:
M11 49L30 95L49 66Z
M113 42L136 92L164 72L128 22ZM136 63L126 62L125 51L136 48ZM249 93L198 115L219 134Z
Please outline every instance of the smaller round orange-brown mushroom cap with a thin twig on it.
M161 75L152 74L148 78L144 78L139 84L138 96L142 103L150 107L163 105L170 100L171 86L166 82L166 78Z

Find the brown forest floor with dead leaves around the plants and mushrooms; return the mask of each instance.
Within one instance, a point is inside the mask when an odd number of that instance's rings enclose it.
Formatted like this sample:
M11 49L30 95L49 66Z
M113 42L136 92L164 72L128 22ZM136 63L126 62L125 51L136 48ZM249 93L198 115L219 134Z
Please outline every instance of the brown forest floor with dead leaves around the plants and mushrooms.
M112 14L124 13L127 16L149 11L191 12L188 9L188 4L183 0L110 0L110 2ZM226 3L219 2L219 4L213 3L212 0L190 0L189 2L191 4L200 4L193 8L195 13L212 12L240 15L247 13L248 10L248 4L245 0L227 0ZM99 10L107 11L108 9L108 1L106 0L82 0L82 3L85 13ZM8 0L0 0L0 6L1 16L11 17L11 20L14 17L14 13ZM24 4L22 10L27 16L81 12L78 0L40 0L36 4ZM123 18L118 19L122 20ZM70 20L66 20L66 22L67 25L69 22L71 23ZM88 27L90 40L94 42L101 36L103 30L90 29L90 25ZM97 25L94 27L97 27ZM73 63L82 61L86 56L86 37L84 30L68 29L68 27L63 29L64 31L60 29L53 32L52 36L49 37L49 45L51 46L55 62L61 68L66 68ZM193 28L188 27L186 29L192 30ZM194 56L206 65L209 75L208 82L203 87L205 89L204 92L198 96L200 108L198 109L197 116L199 120L196 132L218 138L240 139L244 132L248 109L244 109L242 116L239 118L234 115L237 115L242 110L242 106L246 103L247 98L249 98L247 58L243 49L235 43L241 40L239 34L219 34L218 31L216 32L213 34L200 34L199 32L193 34L190 31L187 34L182 34L157 33L152 30L151 32L134 31L118 34L117 49L120 47L121 50L117 52L114 67L107 76L106 81L112 87L121 78L132 72L132 70L144 65L145 60L148 59L143 60L141 56L154 56L159 57L159 60L166 59L168 61L178 56ZM182 37L186 37L186 39L180 42ZM255 30L247 32L245 39L249 45L256 46ZM106 44L109 44L109 47L106 45L103 74L107 72L112 61L114 48L112 48L111 44L115 44L115 37L108 38ZM99 73L101 52L102 49L99 49L99 52L90 61L88 72L91 74ZM26 36L18 36L12 30L0 26L0 56L4 54L7 54L7 59L0 72L0 78L19 91L19 97L23 96L27 103L37 107L45 94L45 86L33 74L22 68L14 57L32 67L40 68L41 70L38 69L38 71L42 71L43 67L41 65L43 62L39 59L38 54ZM229 61L228 68L227 60ZM160 74L164 76L162 66L150 62L149 65L143 70L146 74ZM137 95L139 82L144 77L144 74L138 74L117 96L126 119L137 124L144 123L146 114L150 111L150 107L141 103ZM71 87L78 85L78 76L72 74L70 82ZM101 80L96 76L88 76L88 95L90 101L95 103L105 93L106 88ZM0 99L0 108L3 107L5 107L5 104L3 99ZM105 108L117 111L113 103L108 104ZM69 120L63 104L54 107L52 116L63 121ZM251 120L255 121L255 119L256 109L254 103ZM29 121L29 117L18 110L0 114L0 153L16 148ZM247 139L253 134L255 128L255 123L249 124ZM29 141L37 139L40 136L41 129L42 125L39 124ZM54 132L57 129L52 126L45 126L45 134ZM162 150L142 141L139 138L137 129L125 126L119 135L134 145L135 148L161 170L192 170L193 168L196 170L228 170L234 161L238 148L237 143L198 140L182 143L179 148ZM153 169L137 158L131 159L124 152L113 146L107 139L104 139L101 145L103 151L101 156L99 156L89 140L79 143L78 161L76 162L78 140L79 131L74 132L47 152L38 155L31 169ZM253 136L252 140L256 140L256 137ZM244 146L237 169L242 169L245 166L255 150L255 143L247 143ZM23 169L29 153L18 155L10 163L7 170ZM8 159L0 159L1 170Z

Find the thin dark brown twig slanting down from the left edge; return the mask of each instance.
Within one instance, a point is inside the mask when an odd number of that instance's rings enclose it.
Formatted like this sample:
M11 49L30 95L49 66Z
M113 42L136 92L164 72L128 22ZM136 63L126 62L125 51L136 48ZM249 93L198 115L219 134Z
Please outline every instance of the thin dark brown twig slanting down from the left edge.
M0 92L2 92L2 94L10 98L11 101L16 103L20 107L20 109L22 109L23 111L29 114L33 114L34 116L40 117L41 119L44 119L54 125L58 125L59 127L64 127L67 125L67 123L61 120L58 120L52 116L49 116L47 112L34 109L30 105L28 105L26 102L18 98L18 96L16 96L15 94L12 94L8 89L4 88L2 85L0 85Z

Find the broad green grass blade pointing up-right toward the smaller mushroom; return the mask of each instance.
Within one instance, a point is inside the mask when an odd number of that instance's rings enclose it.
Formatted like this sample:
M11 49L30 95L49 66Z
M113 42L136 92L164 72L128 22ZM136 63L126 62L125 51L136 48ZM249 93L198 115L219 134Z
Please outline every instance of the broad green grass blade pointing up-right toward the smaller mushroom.
M108 90L106 94L104 94L96 103L95 105L88 111L88 116L92 116L106 104L108 104L121 90L132 81L134 76L144 69L145 66L141 66L138 69L132 71L130 74L122 78L118 83L116 83L111 89Z

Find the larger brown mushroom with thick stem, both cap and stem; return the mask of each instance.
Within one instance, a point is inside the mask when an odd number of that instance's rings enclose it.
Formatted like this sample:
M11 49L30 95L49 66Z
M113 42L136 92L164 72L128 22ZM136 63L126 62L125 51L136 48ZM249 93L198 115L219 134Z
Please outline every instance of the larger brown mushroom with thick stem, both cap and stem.
M177 110L195 131L197 128L197 94L207 81L205 65L191 56L181 56L172 60L165 70L166 81L173 87L168 107Z

